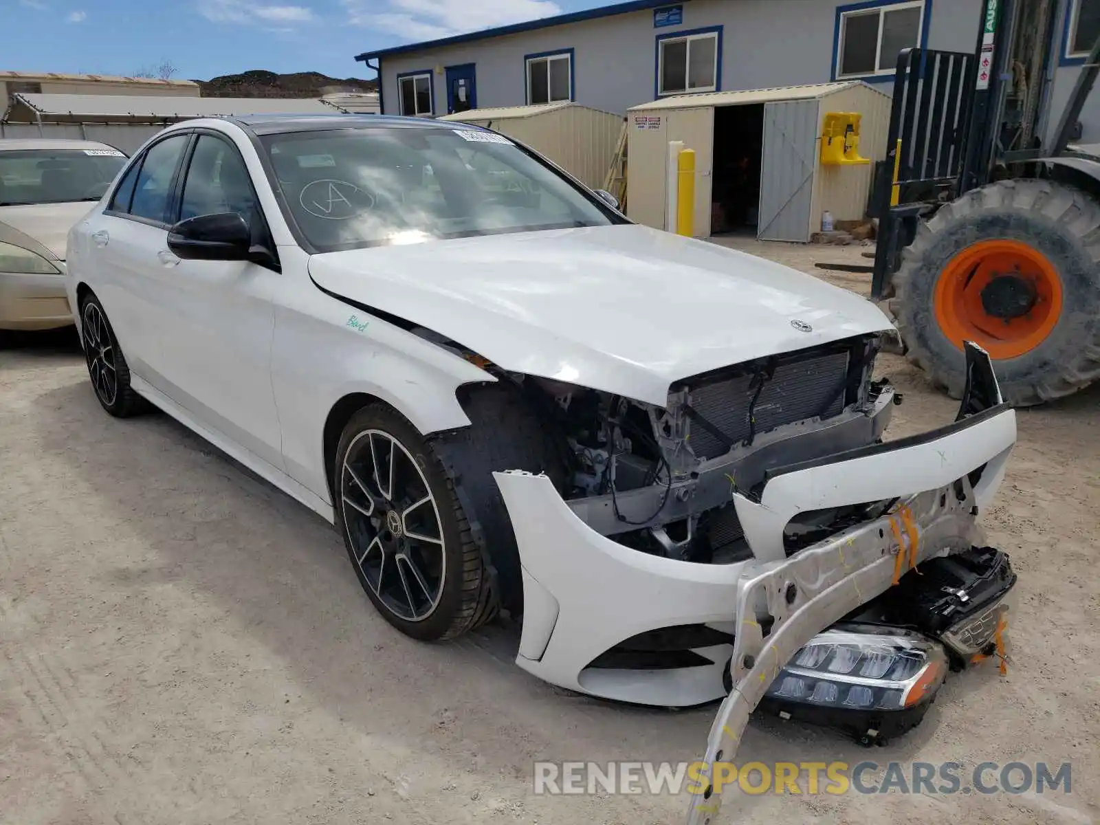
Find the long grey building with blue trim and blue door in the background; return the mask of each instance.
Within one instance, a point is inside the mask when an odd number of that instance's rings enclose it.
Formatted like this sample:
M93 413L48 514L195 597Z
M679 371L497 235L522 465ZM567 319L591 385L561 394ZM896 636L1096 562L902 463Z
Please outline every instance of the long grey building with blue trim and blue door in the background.
M1053 111L1068 98L1100 0L1064 7ZM386 114L573 100L623 113L666 95L839 79L888 82L912 45L974 52L985 0L629 0L356 57ZM1100 140L1100 106L1082 113Z

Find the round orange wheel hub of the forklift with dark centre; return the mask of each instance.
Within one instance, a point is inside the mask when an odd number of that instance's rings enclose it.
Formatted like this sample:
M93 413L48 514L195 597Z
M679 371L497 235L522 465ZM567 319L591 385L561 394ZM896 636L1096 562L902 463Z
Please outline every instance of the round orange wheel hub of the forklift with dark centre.
M979 241L953 257L936 282L936 322L959 349L1013 359L1046 340L1062 316L1062 277L1022 241Z

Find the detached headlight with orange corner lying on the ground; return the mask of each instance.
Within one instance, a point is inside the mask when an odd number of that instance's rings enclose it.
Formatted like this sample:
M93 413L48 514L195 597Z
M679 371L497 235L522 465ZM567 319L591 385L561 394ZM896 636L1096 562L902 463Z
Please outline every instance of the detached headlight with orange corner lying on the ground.
M942 645L919 634L845 625L818 634L768 689L774 698L831 707L901 711L947 675Z

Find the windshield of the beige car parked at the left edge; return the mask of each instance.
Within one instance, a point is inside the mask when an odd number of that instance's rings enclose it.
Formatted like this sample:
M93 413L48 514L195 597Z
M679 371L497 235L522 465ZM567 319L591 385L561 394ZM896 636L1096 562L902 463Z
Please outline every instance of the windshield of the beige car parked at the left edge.
M99 200L125 162L107 147L0 151L0 207Z

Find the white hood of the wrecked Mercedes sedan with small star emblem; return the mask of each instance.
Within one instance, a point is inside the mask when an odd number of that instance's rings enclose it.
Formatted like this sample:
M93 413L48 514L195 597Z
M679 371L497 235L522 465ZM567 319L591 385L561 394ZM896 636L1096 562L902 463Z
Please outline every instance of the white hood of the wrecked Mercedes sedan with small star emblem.
M330 252L309 272L505 370L658 406L675 380L891 328L846 289L634 224Z

